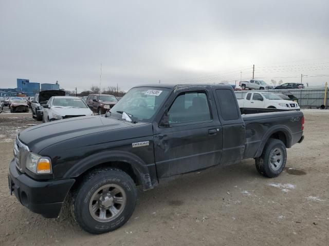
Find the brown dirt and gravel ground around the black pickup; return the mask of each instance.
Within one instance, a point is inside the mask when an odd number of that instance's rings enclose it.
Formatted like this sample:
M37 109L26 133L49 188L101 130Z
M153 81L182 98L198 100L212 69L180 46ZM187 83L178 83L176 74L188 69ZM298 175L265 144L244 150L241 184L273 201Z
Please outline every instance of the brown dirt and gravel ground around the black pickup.
M68 214L45 219L9 195L13 139L30 113L0 114L0 245L328 245L329 111L304 110L305 139L285 171L260 176L252 159L191 173L140 192L119 230L83 232Z

